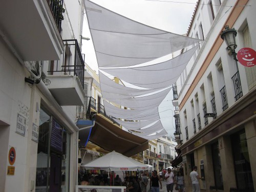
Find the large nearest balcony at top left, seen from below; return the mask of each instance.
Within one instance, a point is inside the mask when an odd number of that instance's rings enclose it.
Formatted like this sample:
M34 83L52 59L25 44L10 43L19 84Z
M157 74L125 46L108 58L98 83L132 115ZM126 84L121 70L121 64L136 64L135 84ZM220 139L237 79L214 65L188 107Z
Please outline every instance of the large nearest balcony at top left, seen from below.
M59 33L62 1L51 0L3 1L0 6L0 29L2 35L24 61L58 60L63 52ZM54 11L62 11L55 18ZM59 20L59 25L55 20ZM57 27L59 26L59 27Z

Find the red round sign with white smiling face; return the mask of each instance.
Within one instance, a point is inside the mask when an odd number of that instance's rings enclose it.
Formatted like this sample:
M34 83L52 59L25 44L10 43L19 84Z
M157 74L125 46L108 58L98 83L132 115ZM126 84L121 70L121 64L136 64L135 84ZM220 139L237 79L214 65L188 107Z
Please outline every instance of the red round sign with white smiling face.
M256 65L256 52L248 47L244 47L238 51L238 61L245 67L253 67Z

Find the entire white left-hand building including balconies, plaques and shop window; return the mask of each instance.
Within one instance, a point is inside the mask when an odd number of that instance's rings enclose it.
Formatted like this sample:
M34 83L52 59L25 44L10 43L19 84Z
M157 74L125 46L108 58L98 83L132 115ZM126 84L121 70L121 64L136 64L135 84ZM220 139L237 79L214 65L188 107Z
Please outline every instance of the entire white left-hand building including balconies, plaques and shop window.
M0 191L74 191L83 2L0 7Z

